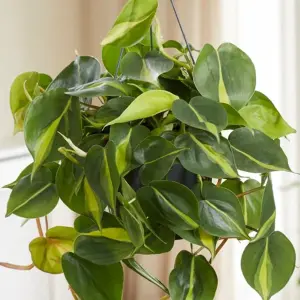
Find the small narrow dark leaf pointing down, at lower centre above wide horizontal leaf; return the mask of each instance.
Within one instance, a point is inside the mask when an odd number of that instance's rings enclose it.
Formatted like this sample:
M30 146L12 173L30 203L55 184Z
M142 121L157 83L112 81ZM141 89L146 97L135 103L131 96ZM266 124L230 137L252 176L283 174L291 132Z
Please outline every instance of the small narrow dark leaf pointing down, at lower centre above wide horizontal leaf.
M142 222L126 207L120 207L120 215L124 228L136 248L144 244L144 227Z

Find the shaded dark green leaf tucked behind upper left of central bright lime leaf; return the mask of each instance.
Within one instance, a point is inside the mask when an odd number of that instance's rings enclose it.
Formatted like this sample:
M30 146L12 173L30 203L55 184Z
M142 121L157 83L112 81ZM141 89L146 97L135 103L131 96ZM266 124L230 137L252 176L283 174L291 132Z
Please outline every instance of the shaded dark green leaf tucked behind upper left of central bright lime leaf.
M132 97L118 97L110 99L102 105L88 121L96 128L102 128L110 121L118 118L122 112L132 103Z

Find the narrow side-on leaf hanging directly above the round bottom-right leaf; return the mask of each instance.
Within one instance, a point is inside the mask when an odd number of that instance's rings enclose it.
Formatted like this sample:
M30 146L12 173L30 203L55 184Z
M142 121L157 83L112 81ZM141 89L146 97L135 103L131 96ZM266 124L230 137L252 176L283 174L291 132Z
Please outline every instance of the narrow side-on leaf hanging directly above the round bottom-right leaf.
M275 230L275 219L276 206L273 194L272 181L269 178L262 199L260 229L253 241L258 241L259 239L270 235Z

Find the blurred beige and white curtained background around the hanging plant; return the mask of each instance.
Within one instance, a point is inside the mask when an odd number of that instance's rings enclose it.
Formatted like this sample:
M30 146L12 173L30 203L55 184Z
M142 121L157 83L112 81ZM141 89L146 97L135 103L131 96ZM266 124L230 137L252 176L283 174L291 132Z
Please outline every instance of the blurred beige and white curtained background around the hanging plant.
M145 0L146 1L146 0ZM125 0L0 0L0 186L14 180L31 162L22 134L13 136L9 88L16 75L41 71L55 76L79 54L100 58L99 43ZM168 0L160 0L159 18L165 39L182 40ZM300 131L300 1L298 0L175 0L190 43L218 46L232 42L253 60L257 90L266 94L283 117ZM300 135L283 141L290 165L300 172ZM274 178L277 229L293 242L300 266L300 178L277 173ZM37 236L34 222L21 228L17 217L4 218L9 191L0 189L0 261L30 264L28 243ZM73 216L61 205L50 225L72 224ZM140 259L143 266L167 281L179 249L159 257ZM245 244L233 241L217 257L219 276L216 300L259 300L240 271ZM141 278L128 273L125 300L153 300L163 296ZM300 299L300 270L275 300ZM72 299L63 275L48 276L37 270L18 272L0 268L0 299ZM273 298L272 298L273 299Z

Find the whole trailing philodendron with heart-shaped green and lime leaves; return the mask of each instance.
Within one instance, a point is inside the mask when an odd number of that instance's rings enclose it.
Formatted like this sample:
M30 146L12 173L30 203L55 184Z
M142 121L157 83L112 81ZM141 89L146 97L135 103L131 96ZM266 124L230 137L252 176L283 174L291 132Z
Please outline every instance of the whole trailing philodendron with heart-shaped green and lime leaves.
M271 181L291 171L280 138L295 130L255 90L242 50L162 41L157 7L128 1L102 42L106 71L77 55L53 80L27 72L13 82L15 132L34 161L6 186L6 216L35 219L40 236L32 265L2 265L64 273L74 299L120 300L127 266L164 299L210 300L214 259L236 239L246 281L268 300L295 268L291 242L275 231ZM46 226L44 235L40 218L59 199L77 214L74 228ZM176 240L191 251L178 253L162 283L135 257Z

